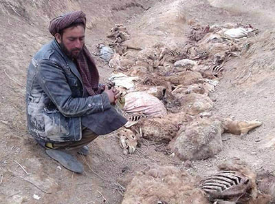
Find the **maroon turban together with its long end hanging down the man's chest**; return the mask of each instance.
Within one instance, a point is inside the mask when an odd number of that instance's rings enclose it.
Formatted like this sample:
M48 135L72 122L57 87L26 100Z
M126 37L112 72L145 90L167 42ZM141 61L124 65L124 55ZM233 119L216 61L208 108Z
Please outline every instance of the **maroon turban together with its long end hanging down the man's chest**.
M82 11L75 11L56 17L50 22L49 31L54 36L54 34L60 33L64 28L68 28L72 23L83 23L86 26L85 13ZM100 93L98 90L98 69L86 45L83 46L83 49L78 55L76 65L88 94L94 96Z

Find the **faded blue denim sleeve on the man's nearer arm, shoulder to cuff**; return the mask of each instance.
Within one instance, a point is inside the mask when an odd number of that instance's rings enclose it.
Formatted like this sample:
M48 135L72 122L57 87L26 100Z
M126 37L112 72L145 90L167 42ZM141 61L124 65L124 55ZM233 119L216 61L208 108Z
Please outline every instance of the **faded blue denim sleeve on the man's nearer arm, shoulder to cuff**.
M108 95L105 92L86 98L72 97L72 90L67 83L65 70L52 60L43 59L39 62L36 79L64 116L86 116L111 108Z

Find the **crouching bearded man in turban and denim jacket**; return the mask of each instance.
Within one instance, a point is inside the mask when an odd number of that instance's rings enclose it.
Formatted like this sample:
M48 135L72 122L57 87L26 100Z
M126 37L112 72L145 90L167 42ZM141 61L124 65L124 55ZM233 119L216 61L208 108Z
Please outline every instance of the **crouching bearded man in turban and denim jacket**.
M85 46L85 14L71 12L50 22L54 39L37 52L28 68L28 130L47 154L74 172L83 165L61 150L87 155L87 144L126 123L111 104L120 93L99 85Z

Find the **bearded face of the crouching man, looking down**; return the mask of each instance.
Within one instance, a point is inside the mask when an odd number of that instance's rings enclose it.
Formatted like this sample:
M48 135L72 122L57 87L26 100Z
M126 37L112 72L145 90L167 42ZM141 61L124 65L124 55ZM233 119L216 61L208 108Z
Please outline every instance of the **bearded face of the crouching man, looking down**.
M56 34L56 40L69 58L76 59L85 43L85 29L83 26L66 28L62 36Z

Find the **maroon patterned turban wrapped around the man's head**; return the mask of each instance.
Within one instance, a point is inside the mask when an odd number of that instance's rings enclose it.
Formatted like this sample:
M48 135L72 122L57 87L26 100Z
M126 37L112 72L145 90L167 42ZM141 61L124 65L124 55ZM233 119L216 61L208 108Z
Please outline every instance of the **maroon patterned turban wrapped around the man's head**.
M50 21L49 31L54 34L68 28L72 23L83 23L86 26L86 14L82 11L69 12Z

